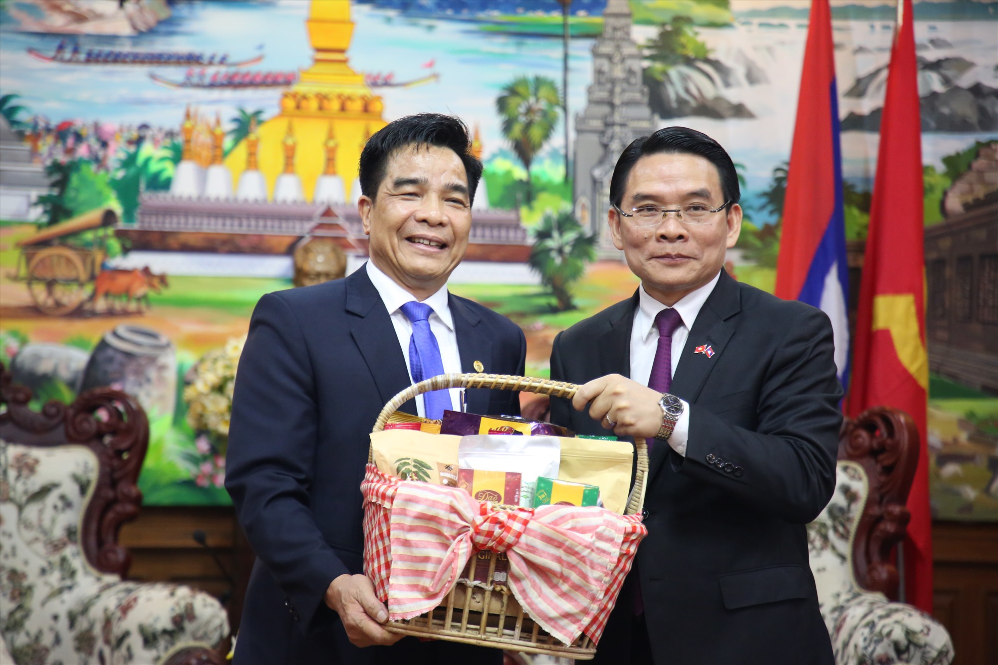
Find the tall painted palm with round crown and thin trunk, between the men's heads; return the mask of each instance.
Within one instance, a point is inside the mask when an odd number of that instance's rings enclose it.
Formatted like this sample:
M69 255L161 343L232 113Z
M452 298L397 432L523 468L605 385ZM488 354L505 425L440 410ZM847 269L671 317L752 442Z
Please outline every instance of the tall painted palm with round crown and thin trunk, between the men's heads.
M530 164L554 133L560 107L558 85L544 76L517 77L496 99L502 133L527 170L528 206L533 199Z

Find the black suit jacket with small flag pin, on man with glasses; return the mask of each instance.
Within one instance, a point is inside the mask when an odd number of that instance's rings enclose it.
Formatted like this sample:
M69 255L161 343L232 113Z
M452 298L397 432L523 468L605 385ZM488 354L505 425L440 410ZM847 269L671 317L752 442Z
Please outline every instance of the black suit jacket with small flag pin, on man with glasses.
M630 375L637 307L635 294L560 333L551 377ZM694 352L702 344L713 357ZM834 490L842 421L827 317L722 272L670 391L690 403L686 457L650 441L648 537L629 575L640 578L656 662L832 663L805 531ZM564 399L552 400L551 418L607 433ZM626 595L598 660L619 663L627 649Z

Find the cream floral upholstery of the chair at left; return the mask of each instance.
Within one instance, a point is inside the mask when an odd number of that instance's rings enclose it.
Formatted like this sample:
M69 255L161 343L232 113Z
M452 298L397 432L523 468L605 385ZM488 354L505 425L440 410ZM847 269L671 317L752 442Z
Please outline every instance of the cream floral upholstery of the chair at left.
M0 631L15 662L155 663L225 638L208 594L91 566L80 546L99 469L90 448L0 441L0 464Z

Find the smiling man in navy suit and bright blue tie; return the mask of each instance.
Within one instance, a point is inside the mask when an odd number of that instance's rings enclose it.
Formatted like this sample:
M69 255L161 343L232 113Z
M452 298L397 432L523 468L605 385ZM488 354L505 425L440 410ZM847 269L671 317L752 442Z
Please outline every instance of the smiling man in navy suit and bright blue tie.
M495 649L394 644L399 636L382 626L387 610L361 574L359 487L384 404L436 373L523 372L523 332L447 293L481 173L460 120L390 123L360 156L370 261L344 280L268 294L253 312L226 478L257 556L237 665L501 662ZM419 395L402 410L440 417L458 405L456 393ZM513 392L469 390L466 403L519 413Z

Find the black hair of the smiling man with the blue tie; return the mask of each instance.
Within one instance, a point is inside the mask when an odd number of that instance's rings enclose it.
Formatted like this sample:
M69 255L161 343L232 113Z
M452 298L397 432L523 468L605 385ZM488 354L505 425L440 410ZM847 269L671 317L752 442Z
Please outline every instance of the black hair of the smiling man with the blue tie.
M374 200L388 170L388 160L406 146L450 148L464 164L468 178L468 203L474 203L475 190L482 178L482 163L471 154L468 127L455 116L417 113L393 120L367 140L360 153L360 192Z

